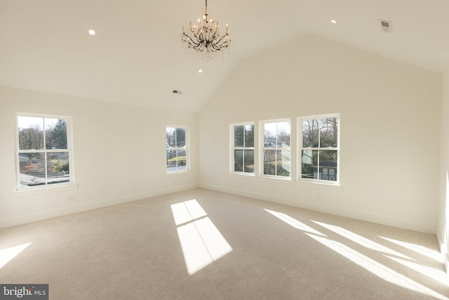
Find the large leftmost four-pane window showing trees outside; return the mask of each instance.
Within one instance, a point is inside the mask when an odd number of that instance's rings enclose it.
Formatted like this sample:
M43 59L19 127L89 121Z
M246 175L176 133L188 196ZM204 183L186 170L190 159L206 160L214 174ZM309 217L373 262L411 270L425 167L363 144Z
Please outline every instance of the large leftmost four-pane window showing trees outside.
M73 183L71 118L16 117L18 190Z

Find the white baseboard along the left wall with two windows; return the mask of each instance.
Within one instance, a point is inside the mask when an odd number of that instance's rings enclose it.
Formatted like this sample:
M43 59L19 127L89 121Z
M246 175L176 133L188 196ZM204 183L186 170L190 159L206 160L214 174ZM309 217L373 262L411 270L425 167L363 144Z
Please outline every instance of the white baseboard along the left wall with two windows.
M35 221L51 219L51 218L55 218L57 216L65 216L67 214L75 214L75 213L81 212L81 211L88 211L91 209L99 209L101 207L109 207L109 206L120 204L120 203L132 202L132 201L147 199L147 198L156 197L156 196L160 196L160 195L181 192L182 190L192 190L193 188L198 188L198 185L183 185L183 186L179 186L176 188L166 188L163 190L152 190L149 193L142 193L142 194L138 194L138 195L119 197L119 198L104 200L104 201L100 201L100 202L82 204L82 205L75 206L75 207L66 207L63 209L54 209L51 211L43 211L38 214L28 214L26 216L18 216L18 217L11 218L11 219L3 219L3 220L0 220L0 228L6 228L6 227L16 226L16 225L20 225L20 224L25 224L25 223L31 223L31 222L35 222Z

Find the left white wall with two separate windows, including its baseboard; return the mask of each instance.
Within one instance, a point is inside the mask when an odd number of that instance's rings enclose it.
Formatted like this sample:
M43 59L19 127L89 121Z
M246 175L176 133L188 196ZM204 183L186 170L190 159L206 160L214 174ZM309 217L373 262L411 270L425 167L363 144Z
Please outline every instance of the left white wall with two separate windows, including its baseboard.
M15 193L15 112L72 116L76 190ZM0 87L0 227L195 188L196 117ZM189 126L192 172L166 175L166 125Z

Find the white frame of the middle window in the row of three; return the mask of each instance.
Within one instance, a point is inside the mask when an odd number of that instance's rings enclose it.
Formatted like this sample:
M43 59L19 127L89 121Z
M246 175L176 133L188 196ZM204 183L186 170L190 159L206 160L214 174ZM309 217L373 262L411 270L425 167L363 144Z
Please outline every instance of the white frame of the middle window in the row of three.
M268 123L279 123L279 122L290 122L290 147L288 148L274 148L274 147L265 147L264 143L265 143L265 124ZM277 125L276 125L277 126ZM260 152L259 152L259 165L260 165L260 171L259 171L259 176L264 177L264 178L277 178L277 179L283 179L283 180L291 180L292 178L292 172L291 172L291 161L292 161L292 157L291 157L291 150L292 150L292 122L290 118L285 118L285 119L270 119L270 120L263 120L260 121L260 135L259 135L259 139L260 139ZM277 132L277 129L276 129ZM289 161L289 176L280 176L280 175L270 175L270 174L264 174L264 150L281 150L281 151L286 151L286 152L290 152L290 161Z

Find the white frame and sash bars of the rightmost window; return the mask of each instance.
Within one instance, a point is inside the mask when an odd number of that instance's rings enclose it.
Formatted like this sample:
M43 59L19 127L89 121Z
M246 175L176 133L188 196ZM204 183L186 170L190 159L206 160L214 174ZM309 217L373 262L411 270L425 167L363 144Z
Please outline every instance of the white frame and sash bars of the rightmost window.
M327 148L304 148L302 147L302 121L304 119L324 119L324 118L337 118L337 147L327 147ZM312 115L305 117L297 117L297 180L311 183L323 183L328 185L340 185L340 177L341 177L341 169L340 169L340 113L335 114L326 114L326 115ZM320 139L319 139L320 141ZM336 150L337 151L337 180L336 181L328 181L323 179L315 179L315 178L302 178L302 150ZM318 162L319 164L319 162ZM317 166L319 169L319 165Z

